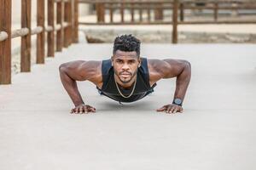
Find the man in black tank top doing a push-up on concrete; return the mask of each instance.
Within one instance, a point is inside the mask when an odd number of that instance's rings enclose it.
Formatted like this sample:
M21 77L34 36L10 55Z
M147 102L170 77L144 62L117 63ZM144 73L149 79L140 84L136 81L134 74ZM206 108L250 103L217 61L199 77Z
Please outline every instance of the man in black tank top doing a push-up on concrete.
M60 66L61 82L75 107L71 113L96 112L85 105L76 81L90 81L100 94L119 102L133 102L151 94L161 78L177 77L172 104L157 111L183 111L183 99L189 86L191 67L181 59L146 59L140 57L140 41L131 35L116 37L113 56L102 61L72 61Z

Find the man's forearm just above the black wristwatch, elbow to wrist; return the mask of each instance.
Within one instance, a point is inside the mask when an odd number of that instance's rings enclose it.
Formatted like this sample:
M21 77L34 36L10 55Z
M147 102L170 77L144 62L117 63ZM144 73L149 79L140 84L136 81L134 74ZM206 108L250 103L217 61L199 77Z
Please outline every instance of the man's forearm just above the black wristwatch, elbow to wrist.
M183 71L177 76L174 99L184 99L187 88L189 87L190 77L191 66L189 63L185 63Z

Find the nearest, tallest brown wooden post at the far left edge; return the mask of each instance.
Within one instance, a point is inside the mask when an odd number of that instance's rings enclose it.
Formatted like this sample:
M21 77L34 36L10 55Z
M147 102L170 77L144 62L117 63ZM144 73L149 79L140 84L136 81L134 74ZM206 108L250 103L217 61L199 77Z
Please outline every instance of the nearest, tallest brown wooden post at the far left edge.
M12 1L0 0L0 4L0 31L8 34L8 39L0 42L0 84L10 84Z

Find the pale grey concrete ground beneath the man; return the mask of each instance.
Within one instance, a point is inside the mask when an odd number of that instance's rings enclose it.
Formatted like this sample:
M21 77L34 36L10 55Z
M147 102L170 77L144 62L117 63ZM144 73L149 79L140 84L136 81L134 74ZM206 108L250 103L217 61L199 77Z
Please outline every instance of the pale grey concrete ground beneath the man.
M1 170L256 168L256 45L143 44L143 56L192 64L182 114L155 111L172 102L175 79L125 105L79 82L96 113L69 114L58 66L108 59L111 51L112 44L75 44L0 86Z

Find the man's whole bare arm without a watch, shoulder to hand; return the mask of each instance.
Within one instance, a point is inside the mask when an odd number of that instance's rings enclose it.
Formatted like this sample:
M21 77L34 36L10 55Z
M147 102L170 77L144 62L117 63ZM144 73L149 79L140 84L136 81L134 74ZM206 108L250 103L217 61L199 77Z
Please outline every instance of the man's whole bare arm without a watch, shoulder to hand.
M101 67L101 62L99 61L81 60L60 65L61 82L75 105L75 108L71 111L72 113L95 112L95 108L90 105L84 105L76 81L89 80L90 82L99 82L98 77L101 77L101 73L98 71L99 67Z

